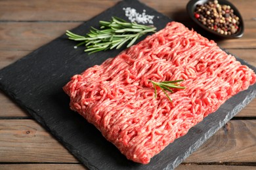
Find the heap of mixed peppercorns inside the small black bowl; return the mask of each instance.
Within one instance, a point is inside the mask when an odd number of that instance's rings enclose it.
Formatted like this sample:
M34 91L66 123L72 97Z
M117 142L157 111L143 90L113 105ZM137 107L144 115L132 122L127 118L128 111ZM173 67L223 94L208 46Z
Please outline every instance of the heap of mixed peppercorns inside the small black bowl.
M194 17L203 25L224 35L232 35L238 31L239 17L229 5L221 5L217 0L196 5Z

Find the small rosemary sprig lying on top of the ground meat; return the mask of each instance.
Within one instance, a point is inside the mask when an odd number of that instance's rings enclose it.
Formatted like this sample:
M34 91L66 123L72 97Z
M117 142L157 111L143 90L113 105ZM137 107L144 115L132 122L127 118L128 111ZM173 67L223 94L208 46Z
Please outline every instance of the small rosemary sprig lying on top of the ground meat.
M165 95L168 97L168 99L171 102L172 102L171 97L169 97L169 95L165 91L167 90L168 92L173 93L173 90L171 90L170 88L179 88L179 89L185 88L184 86L181 86L181 84L178 83L178 82L182 82L183 80L173 80L173 81L164 81L164 82L154 82L153 80L148 80L148 81L152 82L154 86L155 98L157 97L156 86L158 86L163 91L163 93L165 93Z

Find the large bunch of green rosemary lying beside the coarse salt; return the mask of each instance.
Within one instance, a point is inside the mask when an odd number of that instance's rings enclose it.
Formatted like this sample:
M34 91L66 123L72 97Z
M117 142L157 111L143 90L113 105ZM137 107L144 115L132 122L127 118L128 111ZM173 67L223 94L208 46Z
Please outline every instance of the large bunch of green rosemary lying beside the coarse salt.
M85 52L91 54L102 50L112 50L113 48L119 49L125 43L128 43L128 48L142 35L156 31L156 27L153 25L129 23L117 17L112 17L110 22L100 21L99 24L100 29L91 27L91 30L85 36L77 35L68 30L66 35L68 35L68 39L81 41L75 48L85 44Z

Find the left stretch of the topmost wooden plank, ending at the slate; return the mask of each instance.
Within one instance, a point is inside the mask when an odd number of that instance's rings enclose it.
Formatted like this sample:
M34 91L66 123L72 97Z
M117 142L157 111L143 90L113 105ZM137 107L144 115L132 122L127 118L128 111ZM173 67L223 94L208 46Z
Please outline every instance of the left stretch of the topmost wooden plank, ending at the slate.
M114 6L116 1L0 1L1 20L85 21ZM36 9L36 10L35 10ZM35 12L36 11L36 12Z

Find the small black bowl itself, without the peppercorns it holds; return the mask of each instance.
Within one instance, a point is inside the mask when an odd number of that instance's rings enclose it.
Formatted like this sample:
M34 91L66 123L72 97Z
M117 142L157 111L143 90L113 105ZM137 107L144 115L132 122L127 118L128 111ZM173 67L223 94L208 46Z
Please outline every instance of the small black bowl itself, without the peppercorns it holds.
M196 5L203 5L204 3L207 3L209 0L190 0L188 2L188 4L186 5L186 10L188 12L188 15L190 16L190 18L192 18L192 20L194 22L196 22L196 24L200 25L200 27L202 27L203 29L205 29L206 31L217 35L218 37L224 38L224 39L237 39L240 38L244 35L244 22L242 19L242 16L240 14L240 12L238 11L238 9L236 9L236 7L234 7L234 5L232 5L232 3L226 1L226 0L218 0L220 5L229 5L231 9L234 10L234 14L236 16L238 16L239 18L239 22L240 24L238 25L238 31L232 35L223 35L221 33L218 33L217 31L214 31L212 29L209 29L208 27L206 27L205 25L203 25L197 18L195 18L194 16L194 12L196 9Z

